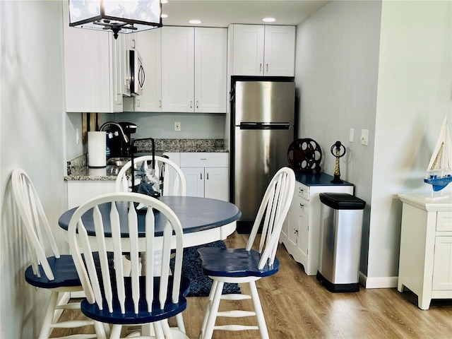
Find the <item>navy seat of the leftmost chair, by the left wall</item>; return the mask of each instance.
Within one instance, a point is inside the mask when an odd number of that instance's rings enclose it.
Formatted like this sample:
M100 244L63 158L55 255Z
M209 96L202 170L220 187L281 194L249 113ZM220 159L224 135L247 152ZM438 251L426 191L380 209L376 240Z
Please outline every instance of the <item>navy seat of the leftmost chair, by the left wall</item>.
M32 267L28 266L25 270L25 280L32 286L43 288L80 286L76 266L73 264L72 256L69 254L61 255L59 258L50 256L47 258L49 265L54 273L54 280L47 279L42 266L39 266L41 278L33 273Z

